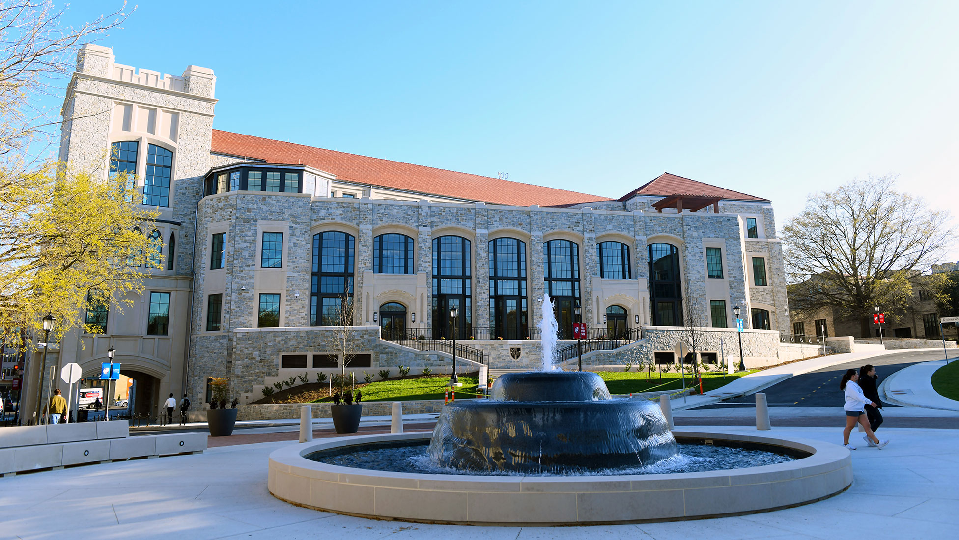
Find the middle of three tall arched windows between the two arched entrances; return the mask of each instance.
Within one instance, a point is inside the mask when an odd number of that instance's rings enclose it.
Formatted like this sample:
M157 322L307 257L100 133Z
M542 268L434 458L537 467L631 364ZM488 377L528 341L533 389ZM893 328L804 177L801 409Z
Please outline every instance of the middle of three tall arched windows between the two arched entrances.
M526 242L516 238L489 241L489 324L491 337L526 339Z

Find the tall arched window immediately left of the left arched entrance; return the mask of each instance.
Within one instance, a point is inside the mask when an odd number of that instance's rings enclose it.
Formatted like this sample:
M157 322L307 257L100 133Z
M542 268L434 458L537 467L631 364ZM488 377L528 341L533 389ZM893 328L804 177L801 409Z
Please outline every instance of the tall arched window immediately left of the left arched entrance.
M313 236L310 326L339 326L340 313L352 310L355 250L353 235L328 231Z

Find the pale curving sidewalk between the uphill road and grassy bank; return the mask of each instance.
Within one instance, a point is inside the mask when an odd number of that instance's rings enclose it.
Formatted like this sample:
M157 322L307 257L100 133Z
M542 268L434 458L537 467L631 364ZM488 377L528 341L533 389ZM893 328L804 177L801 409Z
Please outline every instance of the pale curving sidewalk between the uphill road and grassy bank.
M909 349L909 350L934 350L934 349ZM780 366L778 368L770 368L768 370L757 371L755 373L750 373L739 377L737 380L729 383L728 385L717 388L711 392L701 395L690 395L685 399L682 397L673 399L670 404L672 405L673 411L685 411L687 409L694 409L696 407L702 407L704 405L712 405L713 403L718 403L723 399L729 399L730 397L739 397L740 395L746 394L755 394L760 392L760 390L769 388L774 384L781 383L784 380L794 377L796 375L801 375L803 373L808 373L809 371L822 370L823 368L829 368L830 366L836 366L839 364L845 364L847 362L853 362L855 360L864 360L866 358L875 358L877 356L885 356L887 354L898 354L903 352L903 349L892 349L892 350L882 350L882 351L867 351L867 352L844 352L842 354L830 354L829 356L822 356L819 358L812 358L811 360L804 360L802 362L795 362L793 364L786 364L785 366Z

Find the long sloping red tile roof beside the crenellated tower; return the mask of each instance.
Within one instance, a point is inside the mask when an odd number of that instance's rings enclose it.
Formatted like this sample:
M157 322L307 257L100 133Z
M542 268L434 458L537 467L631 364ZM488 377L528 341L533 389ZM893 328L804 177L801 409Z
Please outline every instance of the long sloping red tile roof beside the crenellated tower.
M454 170L433 169L219 129L213 130L212 150L222 154L261 159L267 163L300 163L335 174L340 180L380 188L494 204L558 206L613 200L576 191L556 190Z

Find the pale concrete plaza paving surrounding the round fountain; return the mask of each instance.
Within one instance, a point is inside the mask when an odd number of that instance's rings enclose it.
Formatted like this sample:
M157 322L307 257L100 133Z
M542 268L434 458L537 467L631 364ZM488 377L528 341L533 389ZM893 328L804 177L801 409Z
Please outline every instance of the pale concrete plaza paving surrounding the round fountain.
M752 432L746 427L723 431ZM763 435L841 442L836 428ZM853 452L854 483L806 506L689 522L517 528L375 521L288 505L267 490L269 452L295 442L105 463L0 480L0 538L943 538L959 526L957 432L883 429ZM854 433L854 442L860 436ZM953 532L949 532L949 531Z

